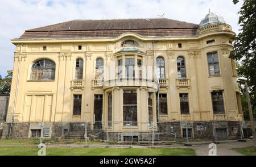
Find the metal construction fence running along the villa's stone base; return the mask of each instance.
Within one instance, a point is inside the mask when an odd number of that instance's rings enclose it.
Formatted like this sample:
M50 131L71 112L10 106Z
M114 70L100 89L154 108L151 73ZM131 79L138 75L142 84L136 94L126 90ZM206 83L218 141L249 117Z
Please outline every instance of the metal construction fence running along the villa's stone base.
M254 123L255 127L255 123ZM84 147L216 143L245 139L250 122L33 122L1 123L0 147L83 145Z

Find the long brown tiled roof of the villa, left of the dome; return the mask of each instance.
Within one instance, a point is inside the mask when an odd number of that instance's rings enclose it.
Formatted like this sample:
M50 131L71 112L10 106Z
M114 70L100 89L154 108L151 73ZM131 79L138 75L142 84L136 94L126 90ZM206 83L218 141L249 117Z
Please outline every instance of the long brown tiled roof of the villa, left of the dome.
M117 37L126 32L142 36L193 36L199 25L166 18L72 20L24 32L20 39Z

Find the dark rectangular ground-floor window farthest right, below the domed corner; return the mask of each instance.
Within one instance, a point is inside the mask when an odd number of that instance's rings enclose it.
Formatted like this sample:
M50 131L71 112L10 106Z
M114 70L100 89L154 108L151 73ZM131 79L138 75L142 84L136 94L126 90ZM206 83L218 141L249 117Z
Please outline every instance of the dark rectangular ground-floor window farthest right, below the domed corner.
M212 94L213 114L225 114L222 90L213 91L211 94Z

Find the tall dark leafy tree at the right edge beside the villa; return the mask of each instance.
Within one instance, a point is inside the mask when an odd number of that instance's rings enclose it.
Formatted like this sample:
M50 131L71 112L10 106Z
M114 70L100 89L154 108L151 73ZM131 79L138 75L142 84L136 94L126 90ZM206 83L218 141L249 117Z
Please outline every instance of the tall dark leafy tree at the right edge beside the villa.
M239 0L233 0L237 4ZM230 58L241 61L238 67L238 76L246 77L249 87L251 107L256 114L256 0L243 0L241 10L238 12L241 32L234 38L234 52ZM247 103L245 91L242 90L242 105L245 119L247 119Z

